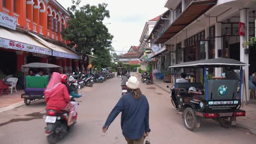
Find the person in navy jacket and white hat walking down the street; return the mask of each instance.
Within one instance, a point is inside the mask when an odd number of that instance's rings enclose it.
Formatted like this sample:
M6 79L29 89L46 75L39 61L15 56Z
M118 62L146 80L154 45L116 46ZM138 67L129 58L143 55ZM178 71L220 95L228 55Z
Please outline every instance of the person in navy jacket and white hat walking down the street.
M126 82L131 89L130 93L123 95L114 109L109 113L102 131L106 133L109 125L120 112L121 129L128 144L142 144L145 136L149 135L149 104L145 95L139 89L139 81L131 76Z

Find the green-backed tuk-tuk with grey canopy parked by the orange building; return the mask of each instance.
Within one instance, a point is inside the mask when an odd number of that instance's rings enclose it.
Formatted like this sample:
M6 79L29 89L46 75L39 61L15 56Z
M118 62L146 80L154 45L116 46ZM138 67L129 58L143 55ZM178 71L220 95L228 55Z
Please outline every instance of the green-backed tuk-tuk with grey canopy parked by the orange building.
M24 69L24 103L30 105L31 100L44 99L44 89L47 87L50 79L49 68L59 68L60 66L49 63L29 63L22 65L23 68L46 68L48 75L46 76L26 76Z

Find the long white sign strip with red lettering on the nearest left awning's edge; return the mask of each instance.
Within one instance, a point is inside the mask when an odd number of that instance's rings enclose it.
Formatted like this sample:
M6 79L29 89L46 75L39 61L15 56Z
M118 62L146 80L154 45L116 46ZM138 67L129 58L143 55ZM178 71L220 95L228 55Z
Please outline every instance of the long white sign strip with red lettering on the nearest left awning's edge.
M0 47L6 48L6 49L41 53L44 55L51 56L51 50L49 50L49 49L45 49L43 47L38 47L38 46L34 46L34 45L20 43L18 41L14 41L14 40L3 39L3 38L0 38Z

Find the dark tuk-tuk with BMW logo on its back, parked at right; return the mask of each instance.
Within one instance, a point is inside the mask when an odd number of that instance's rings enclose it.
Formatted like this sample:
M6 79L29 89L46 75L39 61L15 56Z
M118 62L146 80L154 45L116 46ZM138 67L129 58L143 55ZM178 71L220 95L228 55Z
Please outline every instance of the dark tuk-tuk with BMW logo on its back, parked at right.
M176 109L183 112L185 128L188 130L199 128L201 118L216 119L222 127L229 128L236 124L236 117L246 115L245 111L240 110L242 92L237 92L238 87L242 87L242 67L246 65L248 64L235 59L217 58L184 62L169 67L174 69L174 88L171 88L171 100ZM233 76L226 74L207 79L209 68L221 67L226 68ZM176 70L180 68L203 69L202 83L176 82Z

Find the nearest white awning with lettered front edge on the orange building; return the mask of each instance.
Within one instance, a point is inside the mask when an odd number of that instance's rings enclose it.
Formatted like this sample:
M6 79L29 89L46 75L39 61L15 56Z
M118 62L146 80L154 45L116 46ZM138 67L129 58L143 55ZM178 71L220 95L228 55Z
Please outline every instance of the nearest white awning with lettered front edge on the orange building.
M39 43L26 33L0 27L0 47L7 49L41 53L51 56L51 49Z

